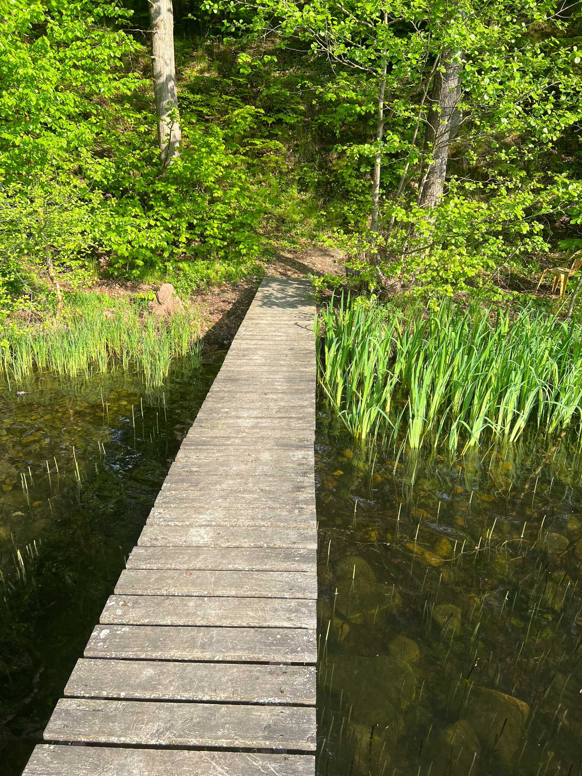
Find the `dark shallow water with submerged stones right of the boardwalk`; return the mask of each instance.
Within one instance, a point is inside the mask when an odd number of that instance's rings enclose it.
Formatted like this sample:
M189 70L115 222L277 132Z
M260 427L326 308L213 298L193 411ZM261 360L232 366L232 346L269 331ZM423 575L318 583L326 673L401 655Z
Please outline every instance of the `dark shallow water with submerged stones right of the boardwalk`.
M319 776L580 776L580 454L362 453L321 407Z

